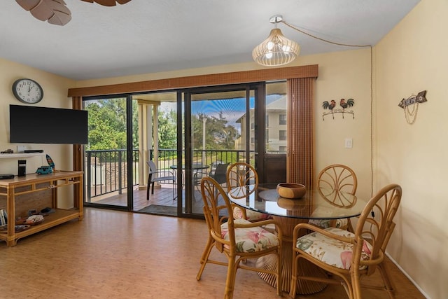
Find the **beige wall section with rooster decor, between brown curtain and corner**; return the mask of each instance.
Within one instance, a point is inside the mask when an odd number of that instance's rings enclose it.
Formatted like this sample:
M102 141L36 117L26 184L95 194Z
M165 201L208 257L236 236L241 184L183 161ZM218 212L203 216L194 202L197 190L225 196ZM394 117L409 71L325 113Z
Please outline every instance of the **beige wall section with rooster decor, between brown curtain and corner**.
M370 48L346 50L326 55L301 57L302 64L318 64L314 102L314 123L316 136L316 175L330 164L344 164L351 167L358 177L357 194L370 198L371 155L370 155ZM352 98L355 104L347 109L351 114L335 113L323 117L324 101L334 99L339 106L340 99ZM344 141L351 138L352 148L345 148Z

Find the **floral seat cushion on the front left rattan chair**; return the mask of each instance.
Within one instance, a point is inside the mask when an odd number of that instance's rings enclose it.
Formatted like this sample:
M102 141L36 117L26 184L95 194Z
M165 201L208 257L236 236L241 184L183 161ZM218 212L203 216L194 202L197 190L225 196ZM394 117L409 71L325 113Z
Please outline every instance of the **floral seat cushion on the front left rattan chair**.
M235 223L251 223L245 219L235 219ZM229 240L228 223L221 225L221 237ZM238 252L255 252L279 245L279 238L264 228L236 228L235 243Z

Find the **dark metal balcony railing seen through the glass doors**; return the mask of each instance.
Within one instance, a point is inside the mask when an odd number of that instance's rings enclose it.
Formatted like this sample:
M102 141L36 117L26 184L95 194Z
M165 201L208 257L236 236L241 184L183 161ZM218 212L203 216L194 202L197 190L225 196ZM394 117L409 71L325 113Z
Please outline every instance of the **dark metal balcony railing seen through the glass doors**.
M253 155L253 153L251 153ZM150 157L154 153L150 151ZM85 172L87 198L98 197L108 193L122 193L127 188L127 152L126 150L85 151ZM251 157L253 158L253 157ZM215 150L193 151L193 163L214 165L217 163L237 162L246 160L246 151ZM177 165L176 149L158 150L158 169L170 169ZM133 150L132 186L139 184L139 150ZM172 183L167 181L166 183Z

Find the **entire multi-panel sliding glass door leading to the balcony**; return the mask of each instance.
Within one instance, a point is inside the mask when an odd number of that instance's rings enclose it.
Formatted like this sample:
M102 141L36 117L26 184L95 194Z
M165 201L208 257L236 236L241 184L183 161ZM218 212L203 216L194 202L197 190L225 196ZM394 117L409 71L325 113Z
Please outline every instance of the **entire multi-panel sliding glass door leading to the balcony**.
M286 179L286 83L251 83L90 97L85 204L202 216L200 180L226 188L234 162L260 182ZM152 162L158 174L151 175ZM158 176L176 180L156 181Z

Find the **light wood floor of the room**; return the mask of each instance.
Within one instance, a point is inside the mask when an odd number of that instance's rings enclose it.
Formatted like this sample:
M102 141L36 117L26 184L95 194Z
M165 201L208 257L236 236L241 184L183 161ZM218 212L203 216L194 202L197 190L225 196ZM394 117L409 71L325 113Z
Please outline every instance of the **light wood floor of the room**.
M207 265L196 280L206 235L202 220L86 208L83 221L20 239L14 247L0 242L0 298L223 298L226 267ZM390 266L397 299L424 298ZM234 298L278 297L257 273L239 270ZM297 298L346 295L342 286L328 286ZM386 293L364 290L363 298Z

